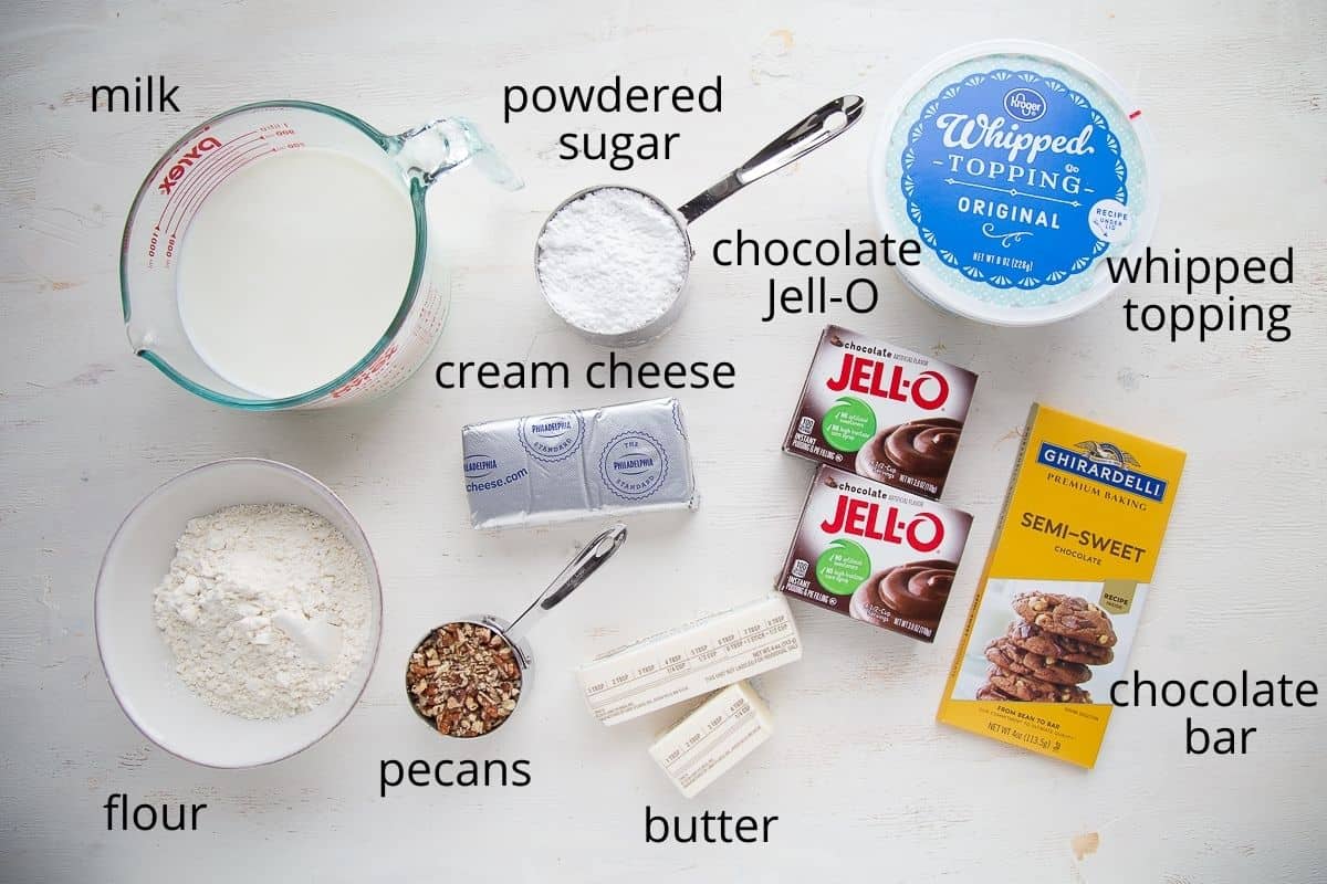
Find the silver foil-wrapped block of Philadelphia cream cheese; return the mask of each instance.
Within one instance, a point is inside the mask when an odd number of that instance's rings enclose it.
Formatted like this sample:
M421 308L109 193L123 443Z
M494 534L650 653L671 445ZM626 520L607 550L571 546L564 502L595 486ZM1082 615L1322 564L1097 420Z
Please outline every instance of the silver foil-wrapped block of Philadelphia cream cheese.
M682 407L652 399L460 431L474 527L695 509Z

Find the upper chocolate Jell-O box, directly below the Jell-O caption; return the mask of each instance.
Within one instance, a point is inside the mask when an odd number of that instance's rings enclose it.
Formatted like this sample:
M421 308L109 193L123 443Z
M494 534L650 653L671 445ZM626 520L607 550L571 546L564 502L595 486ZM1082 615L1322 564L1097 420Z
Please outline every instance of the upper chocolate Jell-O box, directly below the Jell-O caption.
M938 500L977 375L827 326L783 451Z

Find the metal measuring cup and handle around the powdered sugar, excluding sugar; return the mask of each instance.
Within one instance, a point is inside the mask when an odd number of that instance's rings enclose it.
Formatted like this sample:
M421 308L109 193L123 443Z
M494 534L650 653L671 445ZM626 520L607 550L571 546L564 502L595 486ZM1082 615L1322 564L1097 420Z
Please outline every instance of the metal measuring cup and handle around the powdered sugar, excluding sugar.
M583 337L588 338L594 343L604 345L605 347L634 347L637 345L649 343L650 341L658 338L665 331L673 327L677 318L682 314L682 306L686 302L686 281L690 276L691 258L695 257L695 249L691 247L691 237L687 233L687 225L695 219L701 217L711 208L726 200L727 197L736 193L739 190L756 182L770 172L778 171L798 159L802 159L815 148L825 144L844 131L848 130L857 119L861 118L863 109L865 107L865 101L859 95L843 95L841 98L835 98L823 107L816 109L808 117L798 122L792 129L783 133L772 142L766 144L760 151L758 151L751 159L738 166L735 170L729 172L717 184L709 187L707 190L698 193L695 197L681 205L678 209L671 209L669 205L648 191L642 191L637 187L624 187L621 184L598 184L594 187L588 187L583 191L572 193L565 200L557 204L548 217L544 219L543 227L539 229L539 236L535 239L535 277L539 278L539 290L544 296L544 301L548 304L549 309L565 322L568 326L575 329ZM584 329L569 318L557 311L553 305L552 298L548 297L548 292L544 289L544 281L539 274L539 264L541 257L541 248L539 241L544 239L544 231L548 229L549 221L557 216L564 208L575 203L584 196L602 190L622 190L633 191L641 196L649 199L652 203L658 205L664 212L673 219L677 224L678 233L681 233L682 243L686 248L686 270L683 270L682 281L678 284L677 290L673 293L673 301L660 317L652 319L638 329L630 329L620 334L604 334L600 331L593 331L591 329Z

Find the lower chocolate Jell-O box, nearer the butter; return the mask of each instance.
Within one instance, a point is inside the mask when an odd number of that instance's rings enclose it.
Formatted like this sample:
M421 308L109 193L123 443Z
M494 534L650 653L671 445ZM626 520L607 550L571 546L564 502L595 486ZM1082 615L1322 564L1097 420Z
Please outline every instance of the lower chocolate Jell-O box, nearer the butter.
M971 526L967 513L820 467L779 590L934 641Z

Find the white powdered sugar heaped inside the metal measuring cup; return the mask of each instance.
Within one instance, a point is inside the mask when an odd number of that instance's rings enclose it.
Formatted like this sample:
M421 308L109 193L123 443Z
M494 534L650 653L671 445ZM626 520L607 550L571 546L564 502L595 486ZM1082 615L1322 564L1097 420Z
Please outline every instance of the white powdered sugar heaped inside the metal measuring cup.
M662 317L690 254L673 216L649 196L601 187L563 205L539 237L539 284L567 322L596 334Z

